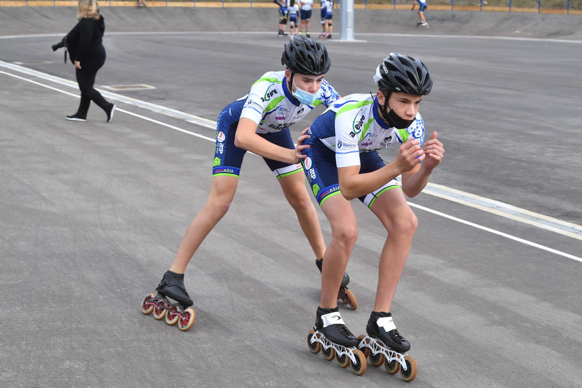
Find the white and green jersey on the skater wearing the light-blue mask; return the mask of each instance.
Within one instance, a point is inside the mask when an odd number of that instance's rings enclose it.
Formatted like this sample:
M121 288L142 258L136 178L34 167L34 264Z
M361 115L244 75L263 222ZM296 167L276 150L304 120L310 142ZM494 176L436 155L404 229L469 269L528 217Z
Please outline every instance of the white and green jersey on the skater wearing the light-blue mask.
M293 98L287 86L285 71L282 71L265 73L251 86L249 94L237 101L244 101L240 104L240 118L257 123L257 133L269 133L289 128L317 105L329 107L338 98L339 94L324 79L320 97L313 104L302 104Z

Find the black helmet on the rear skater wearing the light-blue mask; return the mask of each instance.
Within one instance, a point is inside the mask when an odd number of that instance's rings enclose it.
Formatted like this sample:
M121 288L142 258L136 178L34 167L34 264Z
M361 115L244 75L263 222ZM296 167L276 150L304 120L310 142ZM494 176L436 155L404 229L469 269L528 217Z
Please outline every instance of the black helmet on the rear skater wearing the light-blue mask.
M329 71L331 60L324 45L296 35L285 44L281 65L287 66L292 73L318 76Z

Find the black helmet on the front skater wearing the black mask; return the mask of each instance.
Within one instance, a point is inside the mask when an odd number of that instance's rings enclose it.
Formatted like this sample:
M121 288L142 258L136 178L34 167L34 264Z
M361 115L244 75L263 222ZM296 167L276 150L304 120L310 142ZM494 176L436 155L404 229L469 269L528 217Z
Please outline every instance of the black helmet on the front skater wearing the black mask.
M376 69L374 82L391 91L425 96L431 92L431 73L427 66L408 55L391 52Z

